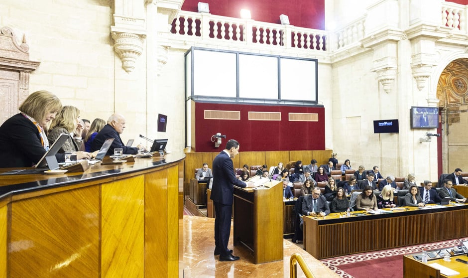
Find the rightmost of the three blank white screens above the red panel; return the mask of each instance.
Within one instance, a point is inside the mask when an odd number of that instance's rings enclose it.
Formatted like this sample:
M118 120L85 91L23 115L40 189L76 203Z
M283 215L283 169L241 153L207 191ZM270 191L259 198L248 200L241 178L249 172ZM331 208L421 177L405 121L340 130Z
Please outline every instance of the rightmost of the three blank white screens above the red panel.
M317 101L316 61L281 57L280 66L282 100Z

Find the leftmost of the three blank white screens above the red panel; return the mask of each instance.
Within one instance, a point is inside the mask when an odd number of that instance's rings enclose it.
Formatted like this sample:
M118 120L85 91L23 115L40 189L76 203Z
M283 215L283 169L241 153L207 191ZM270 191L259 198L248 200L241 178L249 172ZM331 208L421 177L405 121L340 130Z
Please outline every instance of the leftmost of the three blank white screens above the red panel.
M236 53L193 49L193 94L235 98Z

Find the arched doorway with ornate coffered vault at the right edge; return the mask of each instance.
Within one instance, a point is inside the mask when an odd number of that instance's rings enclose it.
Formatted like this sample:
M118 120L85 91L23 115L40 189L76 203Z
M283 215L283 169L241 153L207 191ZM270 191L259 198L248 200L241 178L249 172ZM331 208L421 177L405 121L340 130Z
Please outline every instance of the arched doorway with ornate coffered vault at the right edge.
M450 173L455 168L468 171L468 58L453 60L442 71L437 98L442 120L438 145L442 172Z

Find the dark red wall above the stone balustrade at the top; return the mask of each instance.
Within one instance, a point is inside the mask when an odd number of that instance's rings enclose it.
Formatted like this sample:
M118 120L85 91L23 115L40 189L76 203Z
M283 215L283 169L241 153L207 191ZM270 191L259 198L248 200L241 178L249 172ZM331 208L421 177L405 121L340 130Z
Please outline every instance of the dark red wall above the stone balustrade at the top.
M256 21L279 24L286 14L291 25L325 30L325 0L185 0L182 10L198 12L198 2L208 3L211 14L239 18L246 8Z

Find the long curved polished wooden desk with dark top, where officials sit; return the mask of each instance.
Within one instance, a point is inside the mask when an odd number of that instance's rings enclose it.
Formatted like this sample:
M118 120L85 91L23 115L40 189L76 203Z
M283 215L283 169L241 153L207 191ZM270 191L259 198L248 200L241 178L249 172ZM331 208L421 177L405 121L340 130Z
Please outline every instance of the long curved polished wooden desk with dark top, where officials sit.
M178 277L184 158L1 175L0 278Z

